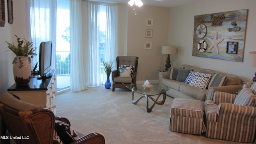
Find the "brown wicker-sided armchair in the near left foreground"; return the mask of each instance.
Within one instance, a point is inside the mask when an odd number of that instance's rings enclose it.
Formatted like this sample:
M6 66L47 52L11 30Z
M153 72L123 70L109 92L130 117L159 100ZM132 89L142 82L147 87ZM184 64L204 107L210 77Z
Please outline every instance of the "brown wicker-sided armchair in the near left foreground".
M17 136L21 139L15 139L16 144L56 144L62 140L63 143L72 144L104 144L104 136L98 133L91 133L78 138L73 131L67 118L57 116L47 108L39 108L34 104L29 104L19 100L18 96L9 93L0 94L0 114L10 135L6 135L6 139L10 140L10 136ZM63 124L61 126L56 126ZM62 127L64 126L64 127ZM60 128L60 129L56 129ZM64 128L64 131L61 129ZM69 127L69 132L67 128ZM66 131L65 131L66 130ZM64 134L62 134L64 133ZM69 134L68 134L69 133ZM60 135L62 134L62 136ZM67 141L62 139L63 136L71 135ZM4 134L1 134L1 138Z

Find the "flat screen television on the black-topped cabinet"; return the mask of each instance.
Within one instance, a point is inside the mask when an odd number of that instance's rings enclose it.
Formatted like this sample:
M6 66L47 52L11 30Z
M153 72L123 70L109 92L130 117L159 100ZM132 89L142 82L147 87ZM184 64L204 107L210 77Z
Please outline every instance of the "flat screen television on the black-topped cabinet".
M41 42L39 47L39 75L38 79L52 77L50 72L52 64L52 41Z

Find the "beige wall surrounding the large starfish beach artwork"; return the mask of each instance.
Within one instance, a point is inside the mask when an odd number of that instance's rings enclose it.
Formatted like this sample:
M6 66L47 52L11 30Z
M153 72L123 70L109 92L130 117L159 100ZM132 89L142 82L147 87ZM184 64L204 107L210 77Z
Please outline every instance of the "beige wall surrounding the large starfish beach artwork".
M233 10L248 9L244 62L233 62L192 56L194 16ZM256 68L250 66L250 51L256 51L256 0L205 0L170 9L169 44L178 47L178 54L171 58L176 67L190 64L239 76L242 80L252 82Z

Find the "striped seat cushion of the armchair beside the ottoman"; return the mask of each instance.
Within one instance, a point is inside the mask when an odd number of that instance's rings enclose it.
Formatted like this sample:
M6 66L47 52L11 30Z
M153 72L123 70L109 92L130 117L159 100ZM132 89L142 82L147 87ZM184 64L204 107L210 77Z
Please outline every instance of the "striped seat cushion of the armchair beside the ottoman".
M205 116L206 120L210 122L216 122L217 121L217 110L218 105L214 104L212 100L207 100L204 103L204 110L205 110Z

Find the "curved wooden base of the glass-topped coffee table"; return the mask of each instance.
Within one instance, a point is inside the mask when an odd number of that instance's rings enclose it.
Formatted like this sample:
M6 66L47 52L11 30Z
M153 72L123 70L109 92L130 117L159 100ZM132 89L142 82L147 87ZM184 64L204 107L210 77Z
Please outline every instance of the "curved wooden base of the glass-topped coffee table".
M163 95L163 100L162 101L158 101L158 99L160 98L161 95ZM146 109L147 109L147 112L151 112L152 109L154 108L155 104L164 104L164 102L166 100L166 92L158 94L156 99L152 98L152 96L148 96L148 95L142 94L142 96L140 98L138 98L138 100L134 100L134 91L132 90L132 104L137 104L138 101L140 99L142 99L142 98L146 98ZM150 98L154 102L150 108L148 108L148 98Z

